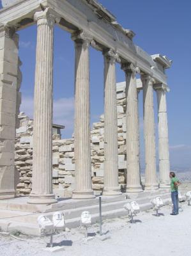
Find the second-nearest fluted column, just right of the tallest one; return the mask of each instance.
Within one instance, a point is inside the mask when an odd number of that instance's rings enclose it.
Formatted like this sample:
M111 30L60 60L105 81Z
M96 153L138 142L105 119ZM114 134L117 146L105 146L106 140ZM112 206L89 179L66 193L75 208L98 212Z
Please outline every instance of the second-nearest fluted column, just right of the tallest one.
M84 32L73 35L75 42L75 190L74 199L95 198L91 186L91 151L89 125L89 43Z

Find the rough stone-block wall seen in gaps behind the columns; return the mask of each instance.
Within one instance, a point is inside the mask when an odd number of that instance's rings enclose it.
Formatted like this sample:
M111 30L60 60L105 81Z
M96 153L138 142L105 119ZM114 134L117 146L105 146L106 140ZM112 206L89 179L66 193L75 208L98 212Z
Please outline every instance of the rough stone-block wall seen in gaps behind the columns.
M125 83L117 84L118 105L118 169L121 189L126 184L126 124L125 124ZM31 193L33 173L33 120L20 113L20 127L16 131L15 173L17 173L17 194ZM91 176L95 193L103 189L104 176L104 116L93 124L91 130ZM52 183L57 196L69 197L75 184L74 139L61 140L53 135L52 143Z

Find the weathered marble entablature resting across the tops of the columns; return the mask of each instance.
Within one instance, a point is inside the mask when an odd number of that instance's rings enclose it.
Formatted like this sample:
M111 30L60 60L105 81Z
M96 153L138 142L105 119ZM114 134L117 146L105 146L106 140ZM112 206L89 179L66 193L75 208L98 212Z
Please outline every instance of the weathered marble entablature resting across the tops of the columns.
M0 24L13 26L17 30L34 24L34 13L43 8L59 17L58 25L74 33L84 31L92 36L94 46L103 51L112 49L119 54L121 63L133 63L141 72L153 76L157 83L167 82L164 69L171 67L166 56L149 56L132 42L134 32L124 29L114 15L95 0L20 0L0 10ZM96 48L96 47L95 47ZM162 68L160 68L162 67Z

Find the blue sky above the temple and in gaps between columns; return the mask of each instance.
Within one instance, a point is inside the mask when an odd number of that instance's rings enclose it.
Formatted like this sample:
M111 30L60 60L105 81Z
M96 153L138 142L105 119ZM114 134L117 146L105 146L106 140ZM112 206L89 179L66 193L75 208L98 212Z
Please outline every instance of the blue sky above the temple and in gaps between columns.
M134 43L149 54L163 54L173 61L167 70L171 92L167 93L169 146L171 166L191 170L191 1L174 0L100 0L126 29L135 32ZM20 59L23 81L22 106L32 117L36 26L19 31ZM116 65L117 82L125 81L124 73ZM90 50L91 123L98 122L103 113L103 57ZM55 28L54 36L54 122L66 125L64 138L73 132L74 47L70 34ZM155 93L154 93L155 94ZM139 97L142 120L142 94ZM155 122L157 124L157 100ZM141 121L142 122L142 121ZM156 130L157 138L157 130ZM141 125L141 156L144 158ZM158 154L158 153L157 153Z

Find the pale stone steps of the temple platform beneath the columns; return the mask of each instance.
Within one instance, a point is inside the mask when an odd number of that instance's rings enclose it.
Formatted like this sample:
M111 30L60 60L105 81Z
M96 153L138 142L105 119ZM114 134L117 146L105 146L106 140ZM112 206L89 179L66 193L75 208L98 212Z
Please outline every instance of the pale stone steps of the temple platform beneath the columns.
M164 204L169 204L171 202L170 194L167 191L157 192L149 192L142 193L142 195L137 196L135 199L141 211L146 211L147 209L151 209L152 205L150 203L151 198L160 195L164 200ZM125 216L127 214L126 210L123 208L123 205L126 202L131 202L132 199L125 199L125 196L121 196L116 198L116 202L114 202L114 198L106 198L102 199L102 218L103 220L106 218L115 218L119 216ZM96 204L95 204L96 202ZM88 205L87 205L88 203ZM65 223L66 227L74 228L80 225L80 214L82 211L89 211L91 213L92 223L96 223L99 221L99 207L98 207L98 198L93 201L93 205L90 204L89 200L86 200L86 204L84 201L78 203L78 205L72 205L72 209L63 209L61 205L59 205L59 211L63 211L65 213ZM71 206L71 205L70 205ZM80 206L80 207L77 207ZM67 207L66 207L67 208ZM57 208L56 208L57 211ZM48 218L52 219L52 212L23 212L23 211L10 211L10 210L0 210L0 228L3 231L13 232L15 230L19 230L24 234L29 234L33 236L40 236L40 228L37 224L37 218L41 214L44 214Z

